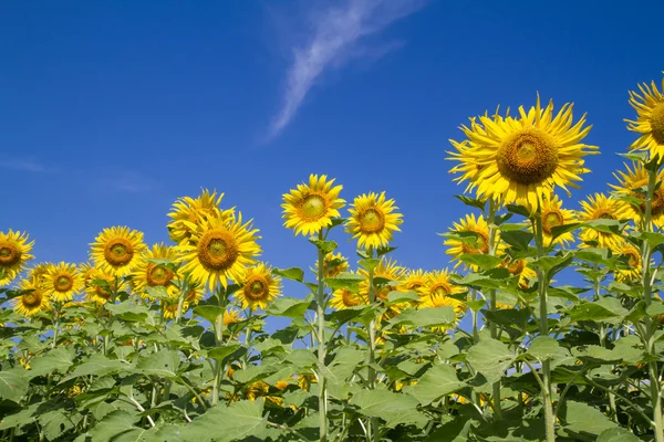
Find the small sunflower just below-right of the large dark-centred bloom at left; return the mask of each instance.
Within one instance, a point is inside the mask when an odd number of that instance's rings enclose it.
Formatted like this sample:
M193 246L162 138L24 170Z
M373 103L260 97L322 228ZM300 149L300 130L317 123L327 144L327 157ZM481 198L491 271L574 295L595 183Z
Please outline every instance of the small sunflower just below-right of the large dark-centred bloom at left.
M281 292L281 278L272 274L272 269L264 263L249 267L241 280L241 287L236 298L242 308L266 308Z

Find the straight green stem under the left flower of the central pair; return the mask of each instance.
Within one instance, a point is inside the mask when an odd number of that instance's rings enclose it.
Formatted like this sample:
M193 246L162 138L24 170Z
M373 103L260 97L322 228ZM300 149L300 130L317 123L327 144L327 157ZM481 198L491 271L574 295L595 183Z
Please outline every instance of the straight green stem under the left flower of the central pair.
M323 240L323 229L319 232L319 240ZM328 441L328 386L322 368L325 366L325 254L318 248L318 361L319 361L319 425L320 441Z

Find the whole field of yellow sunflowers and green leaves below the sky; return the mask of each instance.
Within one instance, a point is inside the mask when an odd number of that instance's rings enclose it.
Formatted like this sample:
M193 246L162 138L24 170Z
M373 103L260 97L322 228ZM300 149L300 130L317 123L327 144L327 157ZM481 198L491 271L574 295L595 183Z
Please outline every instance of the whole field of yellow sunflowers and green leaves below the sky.
M319 175L281 201L310 269L261 262L211 190L174 202L170 243L111 227L87 263L0 232L1 440L664 442L663 93L630 93L624 168L575 210L599 148L571 104L461 125L450 269L397 262L396 202Z

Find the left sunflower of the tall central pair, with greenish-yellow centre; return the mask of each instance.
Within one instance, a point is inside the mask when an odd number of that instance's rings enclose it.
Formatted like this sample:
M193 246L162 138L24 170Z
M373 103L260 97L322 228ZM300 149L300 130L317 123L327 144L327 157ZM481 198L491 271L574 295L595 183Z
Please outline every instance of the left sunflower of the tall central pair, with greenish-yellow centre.
M332 218L341 217L341 209L345 201L339 198L343 186L332 186L334 180L328 181L328 176L311 175L309 185L298 185L283 194L283 218L288 229L293 229L295 235L312 235L321 229L332 224Z

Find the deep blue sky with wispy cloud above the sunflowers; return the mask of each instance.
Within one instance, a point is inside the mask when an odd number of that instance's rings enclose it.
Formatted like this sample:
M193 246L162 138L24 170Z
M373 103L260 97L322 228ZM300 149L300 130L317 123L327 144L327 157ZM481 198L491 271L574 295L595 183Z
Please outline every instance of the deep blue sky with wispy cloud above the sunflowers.
M663 13L661 1L3 2L0 230L30 232L37 261L81 262L105 227L166 241L173 201L216 188L255 219L267 261L307 267L315 252L282 228L280 203L318 172L349 201L385 190L405 220L395 257L445 267L436 233L466 212L444 160L459 124L538 91L574 102L602 152L574 197L605 190L634 139L627 91L664 70Z

